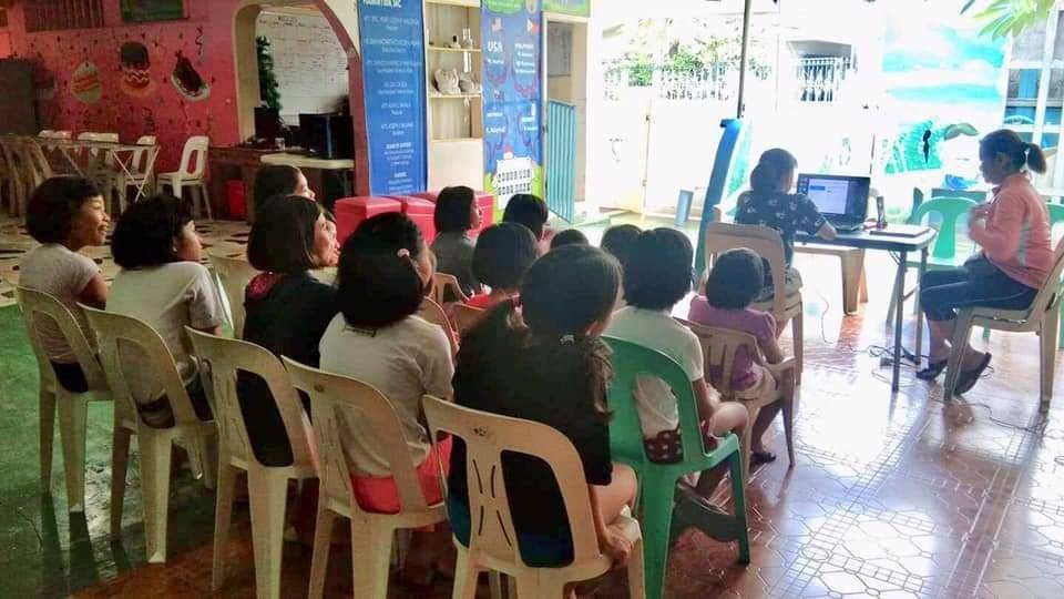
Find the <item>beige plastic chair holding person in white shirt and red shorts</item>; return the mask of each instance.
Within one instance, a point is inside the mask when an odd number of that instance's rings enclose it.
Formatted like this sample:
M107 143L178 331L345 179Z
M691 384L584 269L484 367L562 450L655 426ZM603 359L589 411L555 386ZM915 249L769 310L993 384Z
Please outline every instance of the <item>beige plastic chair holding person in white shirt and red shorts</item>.
M329 559L332 524L337 516L351 520L351 561L358 597L383 599L388 592L388 570L397 530L421 528L447 519L443 502L429 505L407 446L399 417L377 389L345 376L332 375L282 358L297 389L310 396L314 454L317 456L318 517L310 562L310 598L321 597ZM340 420L342 410L355 410L367 418L388 463L399 491L398 514L365 511L355 500L351 465L344 451Z

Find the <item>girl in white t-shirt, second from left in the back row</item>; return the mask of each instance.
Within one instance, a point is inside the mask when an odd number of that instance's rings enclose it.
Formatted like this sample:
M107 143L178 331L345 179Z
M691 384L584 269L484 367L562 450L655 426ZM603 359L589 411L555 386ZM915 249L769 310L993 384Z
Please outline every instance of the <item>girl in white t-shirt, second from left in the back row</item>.
M185 326L217 334L222 304L211 274L200 264L203 247L192 220L192 205L167 195L136 202L119 219L111 253L122 270L111 285L108 311L141 319L160 334L174 357L196 416L211 419ZM144 422L170 426L173 412L163 395L162 380L152 376L151 365L135 367L146 357L134 351L121 358L129 365L125 377Z

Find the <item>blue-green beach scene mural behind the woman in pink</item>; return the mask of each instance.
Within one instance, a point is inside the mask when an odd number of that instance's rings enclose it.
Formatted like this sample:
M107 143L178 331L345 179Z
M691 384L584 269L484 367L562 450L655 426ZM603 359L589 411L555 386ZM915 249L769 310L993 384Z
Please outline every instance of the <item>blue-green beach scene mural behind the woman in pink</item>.
M954 190L981 184L979 138L1004 114L1005 42L980 37L979 23L955 7L902 2L921 18L903 7L887 11L886 174Z

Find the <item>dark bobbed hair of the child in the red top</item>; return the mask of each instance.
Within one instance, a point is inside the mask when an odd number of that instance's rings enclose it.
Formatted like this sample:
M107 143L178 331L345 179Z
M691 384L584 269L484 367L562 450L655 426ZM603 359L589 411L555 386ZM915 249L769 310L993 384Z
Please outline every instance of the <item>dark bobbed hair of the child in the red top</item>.
M473 277L492 290L516 290L536 257L531 231L518 223L499 223L477 237Z

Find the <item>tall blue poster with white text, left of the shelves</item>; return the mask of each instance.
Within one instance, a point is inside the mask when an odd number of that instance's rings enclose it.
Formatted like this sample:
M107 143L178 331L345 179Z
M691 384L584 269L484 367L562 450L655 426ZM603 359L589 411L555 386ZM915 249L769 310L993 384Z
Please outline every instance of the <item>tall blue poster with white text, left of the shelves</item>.
M359 0L372 195L424 191L424 24L422 4Z

